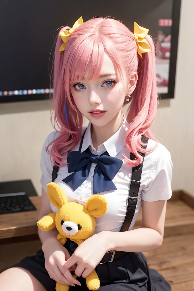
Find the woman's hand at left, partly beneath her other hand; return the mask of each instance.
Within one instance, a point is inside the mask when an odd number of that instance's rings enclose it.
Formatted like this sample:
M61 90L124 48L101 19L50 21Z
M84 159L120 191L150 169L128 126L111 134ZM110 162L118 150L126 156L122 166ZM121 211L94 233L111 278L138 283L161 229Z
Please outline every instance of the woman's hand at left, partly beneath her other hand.
M70 269L65 269L64 264L70 258L68 250L60 244L56 238L50 238L43 243L43 252L45 255L45 268L51 279L64 285L80 285L71 275L70 271L74 271L76 265L72 265Z

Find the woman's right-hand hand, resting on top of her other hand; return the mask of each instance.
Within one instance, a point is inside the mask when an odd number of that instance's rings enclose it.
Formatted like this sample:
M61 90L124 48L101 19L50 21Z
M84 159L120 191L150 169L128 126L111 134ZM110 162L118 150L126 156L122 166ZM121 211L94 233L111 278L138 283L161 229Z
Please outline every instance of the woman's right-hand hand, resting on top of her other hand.
M86 278L102 260L108 250L107 232L101 232L86 239L66 261L64 268L70 269L77 265L75 275Z

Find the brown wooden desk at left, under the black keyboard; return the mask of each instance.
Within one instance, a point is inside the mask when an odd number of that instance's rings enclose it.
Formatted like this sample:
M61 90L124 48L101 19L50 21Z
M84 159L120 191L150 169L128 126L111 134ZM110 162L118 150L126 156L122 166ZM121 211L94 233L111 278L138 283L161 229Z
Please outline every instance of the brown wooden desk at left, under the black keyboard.
M0 239L36 235L41 196L29 197L36 211L26 211L0 215Z

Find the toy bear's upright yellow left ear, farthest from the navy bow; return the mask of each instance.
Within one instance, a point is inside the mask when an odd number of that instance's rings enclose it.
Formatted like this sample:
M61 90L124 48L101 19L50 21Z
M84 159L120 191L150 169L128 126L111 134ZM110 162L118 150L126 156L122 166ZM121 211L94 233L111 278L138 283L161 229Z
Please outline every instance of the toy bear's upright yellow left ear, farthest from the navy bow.
M47 184L47 194L50 202L58 209L68 203L65 192L56 183Z

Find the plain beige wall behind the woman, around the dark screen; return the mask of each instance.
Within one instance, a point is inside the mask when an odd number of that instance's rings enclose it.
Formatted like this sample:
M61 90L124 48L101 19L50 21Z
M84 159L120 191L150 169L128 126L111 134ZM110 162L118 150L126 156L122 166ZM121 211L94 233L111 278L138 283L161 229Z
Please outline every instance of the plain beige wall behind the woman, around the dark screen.
M161 100L153 126L156 137L171 152L174 164L172 189L193 189L194 37L193 0L182 0L175 98ZM31 179L40 186L40 153L53 130L50 102L34 101L0 105L0 181Z

